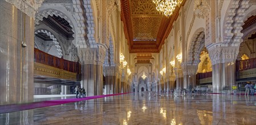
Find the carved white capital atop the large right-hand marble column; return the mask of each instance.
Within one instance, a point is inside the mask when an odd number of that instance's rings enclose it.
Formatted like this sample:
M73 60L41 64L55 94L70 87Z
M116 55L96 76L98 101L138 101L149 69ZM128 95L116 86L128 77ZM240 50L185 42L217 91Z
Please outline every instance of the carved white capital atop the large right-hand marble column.
M239 47L226 47L226 44L217 43L207 47L212 65L235 62L239 53Z

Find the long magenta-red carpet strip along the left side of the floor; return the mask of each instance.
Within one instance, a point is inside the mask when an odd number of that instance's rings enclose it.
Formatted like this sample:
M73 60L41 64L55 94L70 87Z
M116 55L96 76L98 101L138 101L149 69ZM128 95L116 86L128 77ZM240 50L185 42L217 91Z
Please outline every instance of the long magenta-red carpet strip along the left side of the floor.
M90 100L90 99L96 99L96 98L104 98L104 97L109 97L109 96L114 96L114 95L121 95L121 94L127 94L127 93L109 94L109 95L96 95L96 96L86 97L86 98L68 98L68 99L42 101L42 102L31 102L31 103L22 103L22 104L13 104L13 105L2 105L2 106L0 106L0 114L2 114L2 113L11 113L11 112L14 112L14 111L36 109L36 108L40 108L40 107L55 106L55 105L61 105L61 104L65 104L65 103L78 102L78 101L84 101L84 100Z

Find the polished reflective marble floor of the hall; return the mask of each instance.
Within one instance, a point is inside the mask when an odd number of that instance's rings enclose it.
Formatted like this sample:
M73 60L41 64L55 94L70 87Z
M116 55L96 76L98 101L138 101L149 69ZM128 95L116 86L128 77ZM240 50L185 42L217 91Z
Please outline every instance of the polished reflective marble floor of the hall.
M131 93L0 114L0 124L256 124L256 96Z

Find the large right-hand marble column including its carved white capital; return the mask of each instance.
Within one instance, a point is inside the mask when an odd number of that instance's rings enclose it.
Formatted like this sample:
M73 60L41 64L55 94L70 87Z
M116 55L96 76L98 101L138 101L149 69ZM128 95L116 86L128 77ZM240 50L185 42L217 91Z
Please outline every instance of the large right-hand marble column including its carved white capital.
M208 51L213 69L213 93L222 93L224 87L231 90L231 86L235 83L235 60L239 47L213 45Z

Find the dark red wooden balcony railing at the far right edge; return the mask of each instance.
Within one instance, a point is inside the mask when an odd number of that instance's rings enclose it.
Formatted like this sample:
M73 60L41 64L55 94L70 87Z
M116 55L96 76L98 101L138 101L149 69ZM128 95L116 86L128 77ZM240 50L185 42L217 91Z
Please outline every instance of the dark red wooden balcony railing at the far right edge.
M236 70L246 70L246 69L254 69L256 68L256 58L248 59L248 60L237 60L236 64Z

